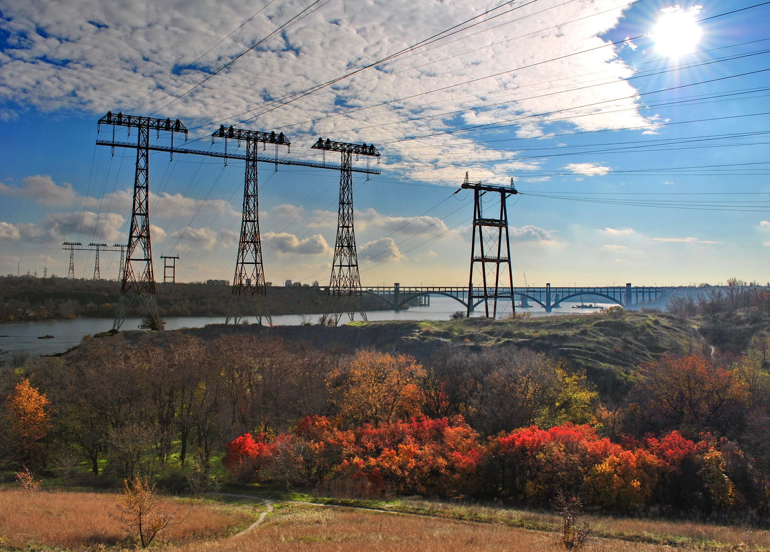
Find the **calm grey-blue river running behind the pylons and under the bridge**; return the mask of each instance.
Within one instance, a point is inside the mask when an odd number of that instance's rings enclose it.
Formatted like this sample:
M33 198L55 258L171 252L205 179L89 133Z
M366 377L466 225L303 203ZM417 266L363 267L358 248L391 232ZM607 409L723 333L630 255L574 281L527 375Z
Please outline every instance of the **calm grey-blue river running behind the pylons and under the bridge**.
M571 308L580 303L564 303L564 308L557 308L551 313L559 314L589 314L596 312L598 308ZM598 303L599 308L611 306ZM434 296L430 298L430 305L423 307L411 307L405 311L368 311L367 318L374 320L448 320L453 312L463 309L454 299ZM532 316L544 316L548 313L539 306L531 308L517 308L517 312L528 312ZM477 309L476 315L482 311ZM320 315L280 315L273 316L273 325L289 326L300 325L303 321L318 323ZM359 317L356 317L359 319ZM222 324L223 316L184 316L177 318L164 318L166 329L202 328L207 324ZM343 315L340 323L348 320ZM122 329L132 330L139 328L141 318L126 318ZM249 323L253 318L246 318ZM0 325L0 361L9 361L16 353L26 353L30 356L55 355L65 352L67 349L78 345L83 336L105 332L112 328L111 318L75 318L75 320L55 320L42 322L14 322ZM51 338L41 339L42 336L52 335Z

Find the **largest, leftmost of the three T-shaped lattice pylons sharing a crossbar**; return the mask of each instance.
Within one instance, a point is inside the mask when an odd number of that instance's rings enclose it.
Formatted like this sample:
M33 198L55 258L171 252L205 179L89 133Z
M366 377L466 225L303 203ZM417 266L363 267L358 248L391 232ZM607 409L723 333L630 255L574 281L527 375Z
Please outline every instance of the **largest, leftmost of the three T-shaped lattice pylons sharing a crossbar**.
M155 275L152 271L152 247L150 243L149 226L149 131L156 130L171 133L171 143L175 133L183 133L187 137L186 127L176 119L155 119L136 115L123 115L108 111L99 119L97 128L102 125L112 125L112 141L115 141L115 126L136 128L136 172L134 173L134 197L131 211L131 227L129 241L126 245L126 264L123 268L123 278L120 285L118 314L112 328L119 330L126 321L131 305L138 299L146 312L150 329L162 329L158 311L158 301L155 296ZM115 146L112 147L115 153Z

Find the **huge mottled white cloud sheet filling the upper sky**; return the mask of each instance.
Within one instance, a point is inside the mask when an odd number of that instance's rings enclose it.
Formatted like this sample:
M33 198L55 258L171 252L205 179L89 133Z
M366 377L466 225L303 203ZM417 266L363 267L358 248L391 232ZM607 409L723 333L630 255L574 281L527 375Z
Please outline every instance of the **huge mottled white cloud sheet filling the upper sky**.
M420 140L417 152L414 142L398 140L431 136L458 124L516 125L527 136L546 135L551 131L544 125L556 120L578 130L655 126L638 112L639 99L628 81L633 70L600 38L618 23L625 5L574 0L563 6L561 0L521 8L504 5L467 32L266 111L273 99L367 66L469 15L483 14L490 5L486 0L373 0L367 9L350 8L348 2L323 4L166 107L180 91L235 59L306 3L270 3L218 44L254 15L252 4L5 2L0 30L7 33L8 47L0 59L0 101L103 113L141 100L145 112L159 109L159 116L179 117L190 127L218 120L223 113L232 116L225 123L259 114L259 126L290 128L294 143L310 143L320 135L388 142L390 169L408 171L414 178L460 180L457 169L446 168L447 153L467 155L474 163L497 160L504 167L494 171L499 176L516 167L537 168L537 163L521 163L504 146L480 146L461 133ZM594 15L576 18L576 13ZM584 53L573 55L579 51ZM195 67L185 69L204 52ZM553 61L546 63L549 59ZM581 75L599 72L601 86L581 82ZM351 111L368 106L378 107ZM453 113L457 111L461 113ZM469 169L477 168L474 163ZM593 163L577 165L592 166L578 167L577 173L587 176L608 170ZM494 163L478 168L490 167Z

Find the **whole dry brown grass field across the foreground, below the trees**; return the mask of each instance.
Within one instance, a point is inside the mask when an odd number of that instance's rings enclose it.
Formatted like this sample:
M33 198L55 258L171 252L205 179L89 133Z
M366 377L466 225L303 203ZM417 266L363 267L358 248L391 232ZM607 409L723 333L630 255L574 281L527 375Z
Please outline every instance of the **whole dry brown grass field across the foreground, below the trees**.
M558 527L547 513L462 504L398 500L393 507L427 515L376 512L308 503L279 503L264 523L249 526L263 510L169 500L177 523L166 534L166 552L554 552L557 533L521 527ZM0 490L0 550L126 550L133 548L115 513L117 494ZM452 518L452 519L449 519ZM770 550L762 530L705 523L591 517L589 552L648 550ZM484 523L479 523L484 522ZM610 536L609 538L607 538ZM621 537L621 538L614 538ZM644 542L635 542L644 541ZM156 544L152 548L157 548Z

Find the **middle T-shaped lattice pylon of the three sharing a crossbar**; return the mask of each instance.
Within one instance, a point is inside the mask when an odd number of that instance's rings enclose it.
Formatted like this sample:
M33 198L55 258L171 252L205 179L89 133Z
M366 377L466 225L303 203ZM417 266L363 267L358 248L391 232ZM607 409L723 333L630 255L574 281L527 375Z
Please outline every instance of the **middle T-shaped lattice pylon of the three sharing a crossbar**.
M262 325L263 318L268 324L272 324L267 311L266 295L267 285L262 264L262 242L259 238L259 197L257 195L256 165L258 150L257 144L276 145L276 160L278 158L278 146L286 146L289 150L291 142L283 136L283 133L264 133L259 130L236 129L233 126L219 126L219 130L211 135L211 141L216 137L225 139L225 153L227 152L227 140L241 140L246 142L246 176L243 179L243 217L241 218L240 239L238 242L238 258L236 259L236 271L233 276L233 288L230 296L230 305L227 310L225 324L232 322L238 324L241 318L252 311L256 321ZM225 157L225 160L227 157ZM226 162L226 161L225 161ZM277 168L277 164L276 164ZM253 310L252 310L253 309Z

